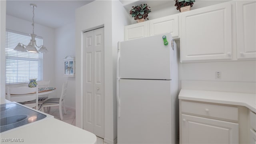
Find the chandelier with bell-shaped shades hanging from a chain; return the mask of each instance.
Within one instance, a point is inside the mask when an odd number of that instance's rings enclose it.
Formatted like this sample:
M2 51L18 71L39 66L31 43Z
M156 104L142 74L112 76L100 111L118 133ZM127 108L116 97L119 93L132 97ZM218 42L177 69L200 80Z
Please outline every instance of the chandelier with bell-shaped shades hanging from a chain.
M18 45L14 48L14 50L19 51L19 52L46 53L46 52L48 52L48 50L46 49L46 47L44 45L42 45L42 46L36 45L36 40L35 40L36 34L34 34L34 16L35 16L34 10L36 8L36 4L30 4L30 6L33 7L33 18L32 18L33 34L30 34L30 36L31 36L30 43L28 44L28 46L18 43Z

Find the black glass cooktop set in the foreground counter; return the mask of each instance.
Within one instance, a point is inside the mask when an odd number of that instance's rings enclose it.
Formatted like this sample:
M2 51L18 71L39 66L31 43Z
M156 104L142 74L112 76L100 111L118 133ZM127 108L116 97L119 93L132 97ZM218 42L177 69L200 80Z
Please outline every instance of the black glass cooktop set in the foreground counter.
M1 104L0 108L1 133L46 118L46 115L16 102Z

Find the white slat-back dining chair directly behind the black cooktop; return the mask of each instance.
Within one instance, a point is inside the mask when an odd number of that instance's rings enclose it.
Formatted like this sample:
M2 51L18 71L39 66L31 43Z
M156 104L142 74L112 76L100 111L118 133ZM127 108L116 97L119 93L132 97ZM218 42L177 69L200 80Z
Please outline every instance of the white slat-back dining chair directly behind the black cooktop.
M38 104L38 86L29 87L7 87L7 100L18 102L36 110L42 109L42 104Z

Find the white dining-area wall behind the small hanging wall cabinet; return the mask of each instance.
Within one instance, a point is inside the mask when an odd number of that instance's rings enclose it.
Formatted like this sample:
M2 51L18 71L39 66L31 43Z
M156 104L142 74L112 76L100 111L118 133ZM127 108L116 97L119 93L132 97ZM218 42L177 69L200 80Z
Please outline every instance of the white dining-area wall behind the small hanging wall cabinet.
M64 77L64 61L66 56L75 56L75 23L67 24L55 30L55 75L56 96L59 97L62 84L68 81L68 91L65 98L65 105L68 108L76 108L75 98L75 77Z

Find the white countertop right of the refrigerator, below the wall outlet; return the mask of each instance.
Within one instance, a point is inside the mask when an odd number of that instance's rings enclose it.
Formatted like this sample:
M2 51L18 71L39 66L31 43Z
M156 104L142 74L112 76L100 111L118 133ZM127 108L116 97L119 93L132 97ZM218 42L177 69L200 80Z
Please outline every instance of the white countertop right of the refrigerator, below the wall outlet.
M256 94L254 93L181 89L179 99L245 106L256 112Z

